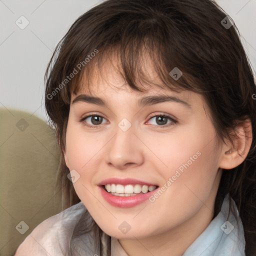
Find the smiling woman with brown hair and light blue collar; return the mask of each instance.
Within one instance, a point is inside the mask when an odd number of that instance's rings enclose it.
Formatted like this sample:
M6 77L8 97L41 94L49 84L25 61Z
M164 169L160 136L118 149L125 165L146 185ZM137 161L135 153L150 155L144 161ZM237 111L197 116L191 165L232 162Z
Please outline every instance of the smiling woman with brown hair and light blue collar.
M255 84L215 2L104 1L45 82L65 210L15 255L255 255Z

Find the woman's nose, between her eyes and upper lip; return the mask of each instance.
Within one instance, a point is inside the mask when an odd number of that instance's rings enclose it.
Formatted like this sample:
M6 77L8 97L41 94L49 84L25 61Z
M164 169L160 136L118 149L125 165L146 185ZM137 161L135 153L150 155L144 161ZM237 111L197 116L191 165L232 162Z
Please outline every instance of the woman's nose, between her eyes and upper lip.
M131 125L126 131L117 126L115 135L107 143L107 164L117 169L139 166L143 163L143 143Z

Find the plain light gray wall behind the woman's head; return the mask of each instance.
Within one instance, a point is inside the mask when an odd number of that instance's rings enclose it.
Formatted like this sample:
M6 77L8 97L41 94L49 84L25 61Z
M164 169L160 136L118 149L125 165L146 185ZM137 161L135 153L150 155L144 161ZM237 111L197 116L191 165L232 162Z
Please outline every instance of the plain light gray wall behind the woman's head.
M0 0L0 107L16 108L46 119L46 65L57 42L75 19L102 0ZM256 0L216 0L234 20L256 69ZM20 29L15 21L29 24ZM217 35L216 35L217 36Z

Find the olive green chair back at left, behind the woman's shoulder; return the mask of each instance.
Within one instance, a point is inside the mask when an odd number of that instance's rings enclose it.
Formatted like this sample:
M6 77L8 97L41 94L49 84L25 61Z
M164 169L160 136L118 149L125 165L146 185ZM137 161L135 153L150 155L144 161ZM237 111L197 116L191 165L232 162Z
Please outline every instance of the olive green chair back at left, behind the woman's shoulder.
M0 108L0 256L14 255L36 225L61 211L58 165L54 130L45 121Z

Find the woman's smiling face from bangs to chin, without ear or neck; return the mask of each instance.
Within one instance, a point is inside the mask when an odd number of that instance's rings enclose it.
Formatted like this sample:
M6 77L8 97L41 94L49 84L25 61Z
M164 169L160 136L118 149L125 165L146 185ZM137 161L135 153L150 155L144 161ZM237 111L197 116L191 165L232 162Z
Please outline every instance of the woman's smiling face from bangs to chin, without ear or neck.
M102 73L91 94L84 85L71 97L65 150L74 189L96 223L133 239L209 222L221 148L202 97L158 86L133 91L108 62Z

